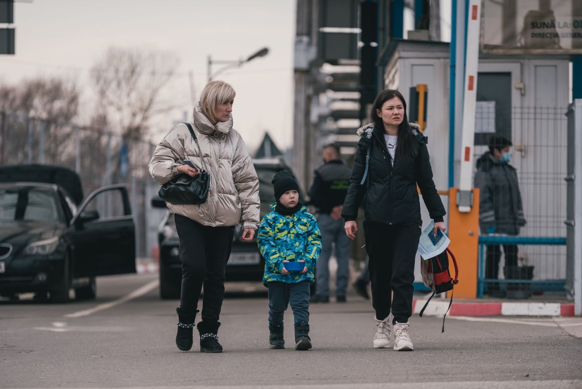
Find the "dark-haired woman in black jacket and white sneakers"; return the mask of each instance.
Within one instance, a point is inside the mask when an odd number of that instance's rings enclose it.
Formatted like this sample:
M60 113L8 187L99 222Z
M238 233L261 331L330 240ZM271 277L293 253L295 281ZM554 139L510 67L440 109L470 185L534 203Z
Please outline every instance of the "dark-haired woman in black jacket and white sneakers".
M445 231L445 207L432 181L427 137L417 125L408 122L402 94L397 90L382 91L374 101L370 118L373 123L358 130L360 142L342 217L347 236L354 239L358 208L364 204L365 247L370 257L372 306L377 323L374 348L388 348L392 313L394 349L412 351L408 319L412 315L414 261L422 226L417 185L434 220L435 234L437 229ZM361 183L368 147L367 176Z

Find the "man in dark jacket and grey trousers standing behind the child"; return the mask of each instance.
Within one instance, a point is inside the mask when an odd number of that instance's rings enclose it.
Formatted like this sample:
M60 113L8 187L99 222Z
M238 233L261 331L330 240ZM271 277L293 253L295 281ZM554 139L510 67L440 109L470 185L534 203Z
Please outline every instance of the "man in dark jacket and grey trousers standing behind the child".
M349 185L350 169L342 161L337 146L325 146L323 158L325 164L315 170L310 190L311 204L317 207L318 211L317 222L323 245L315 270L315 295L311 302L329 302L329 257L332 251L335 252L338 261L336 299L338 302L345 302L352 241L343 229L341 214Z

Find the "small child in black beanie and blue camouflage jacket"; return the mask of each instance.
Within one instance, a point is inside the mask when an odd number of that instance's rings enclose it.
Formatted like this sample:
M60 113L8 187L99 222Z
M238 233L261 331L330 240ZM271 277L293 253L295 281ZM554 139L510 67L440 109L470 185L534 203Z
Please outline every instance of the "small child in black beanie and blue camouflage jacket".
M291 305L295 349L311 348L309 337L310 284L321 252L321 234L314 215L299 201L299 185L289 172L273 178L276 202L258 228L257 242L265 258L262 282L269 290L269 346L285 348L283 313ZM303 270L288 271L288 262L303 262Z

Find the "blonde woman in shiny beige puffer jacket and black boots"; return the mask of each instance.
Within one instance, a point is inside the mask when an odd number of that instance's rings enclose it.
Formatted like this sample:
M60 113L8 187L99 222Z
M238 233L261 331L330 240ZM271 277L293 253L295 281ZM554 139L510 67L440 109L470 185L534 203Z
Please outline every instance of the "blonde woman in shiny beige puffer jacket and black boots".
M204 287L202 321L197 326L200 351L222 352L218 319L235 225L242 223L242 240L251 241L259 223L257 173L242 137L232 128L235 94L232 86L222 81L212 81L202 91L191 124L203 155L198 155L187 126L179 124L158 144L148 166L159 184L179 173L199 174L183 160L201 168L202 157L210 172L210 192L204 204L167 204L175 213L180 239L182 292L176 309L176 345L182 351L192 347L194 319Z

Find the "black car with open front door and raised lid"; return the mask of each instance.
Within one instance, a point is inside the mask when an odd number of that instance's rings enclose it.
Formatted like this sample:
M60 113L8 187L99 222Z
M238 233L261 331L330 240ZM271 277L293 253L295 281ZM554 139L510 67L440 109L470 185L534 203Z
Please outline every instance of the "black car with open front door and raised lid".
M125 185L83 200L69 169L0 168L0 295L94 299L96 276L136 272L134 231Z

